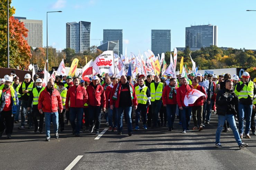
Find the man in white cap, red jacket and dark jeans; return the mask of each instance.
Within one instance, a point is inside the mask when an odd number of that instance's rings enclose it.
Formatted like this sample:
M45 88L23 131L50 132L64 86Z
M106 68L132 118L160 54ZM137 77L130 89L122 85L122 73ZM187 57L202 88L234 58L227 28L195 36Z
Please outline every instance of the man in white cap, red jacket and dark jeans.
M102 107L102 111L106 110L106 96L104 88L99 84L100 79L98 76L92 77L92 82L86 88L88 94L87 104L89 105L89 123L90 130L89 132L93 132L94 121L96 121L95 134L100 134L100 121L101 121L101 112L100 109Z

